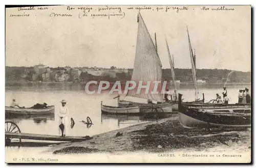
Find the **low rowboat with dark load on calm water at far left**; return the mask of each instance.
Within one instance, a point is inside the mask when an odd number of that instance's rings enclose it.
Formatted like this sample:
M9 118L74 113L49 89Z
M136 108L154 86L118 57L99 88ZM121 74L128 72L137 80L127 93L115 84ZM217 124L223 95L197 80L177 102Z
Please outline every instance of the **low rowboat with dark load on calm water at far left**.
M15 108L5 106L5 113L8 115L44 115L53 114L54 105L47 106L46 108Z

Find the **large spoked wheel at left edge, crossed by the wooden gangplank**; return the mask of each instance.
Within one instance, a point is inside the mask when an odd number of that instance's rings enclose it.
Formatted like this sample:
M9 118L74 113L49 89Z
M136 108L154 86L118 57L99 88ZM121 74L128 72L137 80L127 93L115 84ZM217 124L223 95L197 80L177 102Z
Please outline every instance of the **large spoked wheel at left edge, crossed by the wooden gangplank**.
M5 132L18 132L21 133L19 127L17 126L17 124L15 124L14 122L11 121L6 121L5 122ZM21 138L12 138L12 137L8 137L5 136L5 142L6 143L12 143L12 142L22 142Z

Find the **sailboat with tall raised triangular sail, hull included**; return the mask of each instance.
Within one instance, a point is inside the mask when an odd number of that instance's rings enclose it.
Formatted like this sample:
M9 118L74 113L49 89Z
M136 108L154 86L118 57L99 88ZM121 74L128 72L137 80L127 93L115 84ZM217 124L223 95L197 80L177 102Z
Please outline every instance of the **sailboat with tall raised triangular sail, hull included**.
M143 82L159 81L160 86L162 86L162 64L157 53L157 44L154 45L140 12L137 22L137 45L131 80L137 84L140 80ZM152 101L152 103L148 103L148 101ZM135 90L129 90L124 99L118 101L118 106L139 106L140 113L149 113L157 109L163 113L173 113L173 104L164 102L161 92L137 94Z

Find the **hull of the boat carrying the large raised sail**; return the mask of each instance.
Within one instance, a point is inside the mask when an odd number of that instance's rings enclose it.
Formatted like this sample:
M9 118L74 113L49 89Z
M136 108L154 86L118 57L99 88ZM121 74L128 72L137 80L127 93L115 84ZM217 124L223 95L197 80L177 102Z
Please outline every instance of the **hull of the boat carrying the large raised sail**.
M140 109L140 113L150 113L152 111L152 104L145 104L145 103L137 103L132 101L118 101L118 106L120 107L133 107L138 106ZM159 103L153 104L153 107L160 107L163 109L164 113L178 113L177 111L173 111L173 104L172 103ZM176 105L178 109L178 105Z

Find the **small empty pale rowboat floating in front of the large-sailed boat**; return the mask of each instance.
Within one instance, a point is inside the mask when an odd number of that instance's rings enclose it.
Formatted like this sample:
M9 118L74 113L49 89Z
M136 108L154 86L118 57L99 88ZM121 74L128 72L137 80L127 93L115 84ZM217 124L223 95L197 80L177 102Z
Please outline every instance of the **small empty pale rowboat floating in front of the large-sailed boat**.
M133 107L115 107L103 105L101 101L101 113L102 114L119 114L119 115L127 115L127 114L139 114L140 108L138 106Z

